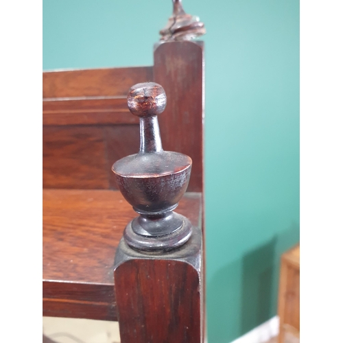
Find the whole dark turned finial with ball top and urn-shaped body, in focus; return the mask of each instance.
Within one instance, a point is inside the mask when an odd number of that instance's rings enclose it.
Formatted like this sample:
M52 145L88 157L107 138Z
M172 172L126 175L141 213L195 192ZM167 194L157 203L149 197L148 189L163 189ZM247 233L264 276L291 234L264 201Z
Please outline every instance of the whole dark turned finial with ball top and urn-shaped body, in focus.
M119 190L140 214L123 235L138 250L172 250L191 236L189 220L173 210L187 189L192 161L162 148L157 115L166 104L159 84L145 82L130 88L128 108L139 117L141 147L138 154L121 158L112 167Z

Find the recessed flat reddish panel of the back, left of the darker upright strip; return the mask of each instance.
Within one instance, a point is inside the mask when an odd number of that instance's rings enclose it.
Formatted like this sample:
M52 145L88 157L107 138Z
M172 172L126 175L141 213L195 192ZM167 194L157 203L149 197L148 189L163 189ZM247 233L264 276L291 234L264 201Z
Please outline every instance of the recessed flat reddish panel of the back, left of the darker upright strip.
M102 128L43 128L44 188L108 189L107 165Z

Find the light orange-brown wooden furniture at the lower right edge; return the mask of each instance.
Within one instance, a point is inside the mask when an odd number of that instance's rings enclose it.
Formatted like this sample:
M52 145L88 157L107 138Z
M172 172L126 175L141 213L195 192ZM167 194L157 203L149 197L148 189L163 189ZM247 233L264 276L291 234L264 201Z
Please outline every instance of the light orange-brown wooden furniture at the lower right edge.
M300 246L281 257L279 285L279 343L299 342L300 334Z

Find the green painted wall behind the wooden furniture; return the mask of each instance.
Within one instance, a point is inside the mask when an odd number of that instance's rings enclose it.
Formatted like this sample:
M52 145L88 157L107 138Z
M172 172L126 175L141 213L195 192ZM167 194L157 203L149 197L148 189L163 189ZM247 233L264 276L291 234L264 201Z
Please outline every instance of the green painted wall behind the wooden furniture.
M205 23L209 343L276 314L299 241L299 1L185 0ZM44 0L43 69L152 64L171 0Z

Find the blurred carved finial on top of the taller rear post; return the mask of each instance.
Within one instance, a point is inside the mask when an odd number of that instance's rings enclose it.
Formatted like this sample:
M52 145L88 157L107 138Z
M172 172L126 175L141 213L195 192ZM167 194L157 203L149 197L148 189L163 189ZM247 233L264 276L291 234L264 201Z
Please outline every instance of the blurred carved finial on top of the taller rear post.
M205 33L204 23L199 17L187 14L183 10L182 0L173 0L173 15L160 31L161 40L191 40Z

